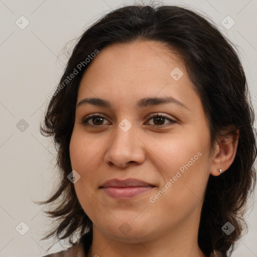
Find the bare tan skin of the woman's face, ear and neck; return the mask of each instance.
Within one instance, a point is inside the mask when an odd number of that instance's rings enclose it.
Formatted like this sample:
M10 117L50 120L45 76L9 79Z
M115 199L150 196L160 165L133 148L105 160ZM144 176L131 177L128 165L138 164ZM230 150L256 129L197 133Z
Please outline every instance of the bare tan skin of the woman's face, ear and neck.
M178 81L170 75L176 67L183 72ZM175 103L135 107L141 98L161 96L187 108ZM104 98L112 106L78 106L70 141L72 169L80 175L76 194L93 222L88 256L205 256L197 233L206 184L210 175L231 165L237 142L231 135L232 143L217 143L210 155L208 123L183 60L160 42L110 45L82 77L77 104L86 97ZM168 119L155 121L156 112ZM103 119L82 124L91 113ZM123 119L132 125L127 132L119 127ZM150 202L197 153L201 156L184 174ZM134 199L116 200L99 188L113 178L136 178L156 187ZM122 233L122 224L131 230Z

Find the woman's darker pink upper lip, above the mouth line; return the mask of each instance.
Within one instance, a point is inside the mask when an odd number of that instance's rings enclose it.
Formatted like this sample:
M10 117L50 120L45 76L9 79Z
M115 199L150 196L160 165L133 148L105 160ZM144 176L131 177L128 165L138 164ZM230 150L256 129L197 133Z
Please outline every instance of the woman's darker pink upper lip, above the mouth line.
M110 179L104 182L100 187L149 187L154 186L150 183L147 183L143 180L138 179Z

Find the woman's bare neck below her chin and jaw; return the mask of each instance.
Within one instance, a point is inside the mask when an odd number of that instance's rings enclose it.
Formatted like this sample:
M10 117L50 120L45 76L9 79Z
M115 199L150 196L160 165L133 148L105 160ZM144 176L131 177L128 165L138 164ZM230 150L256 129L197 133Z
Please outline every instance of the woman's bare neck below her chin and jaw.
M206 257L197 243L198 222L195 217L184 220L172 229L163 228L144 237L124 241L119 236L102 233L93 225L93 241L87 257Z

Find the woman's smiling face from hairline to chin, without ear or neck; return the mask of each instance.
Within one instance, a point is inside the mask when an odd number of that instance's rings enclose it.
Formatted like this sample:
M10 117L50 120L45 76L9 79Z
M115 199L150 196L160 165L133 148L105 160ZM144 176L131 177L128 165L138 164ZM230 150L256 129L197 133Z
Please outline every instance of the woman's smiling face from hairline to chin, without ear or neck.
M91 61L70 159L94 229L124 241L197 229L209 149L201 99L183 60L162 43L113 44Z

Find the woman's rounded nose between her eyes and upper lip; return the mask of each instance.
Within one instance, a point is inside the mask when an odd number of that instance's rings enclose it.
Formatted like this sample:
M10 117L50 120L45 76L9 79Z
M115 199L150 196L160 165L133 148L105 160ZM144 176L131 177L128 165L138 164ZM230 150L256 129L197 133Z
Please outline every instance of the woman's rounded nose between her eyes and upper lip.
M145 161L145 145L135 134L133 127L123 132L117 127L116 134L110 141L104 156L104 162L109 166L126 168L129 163L140 165ZM139 133L137 133L139 134Z

